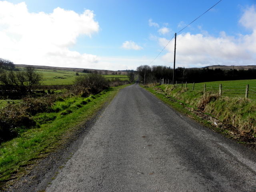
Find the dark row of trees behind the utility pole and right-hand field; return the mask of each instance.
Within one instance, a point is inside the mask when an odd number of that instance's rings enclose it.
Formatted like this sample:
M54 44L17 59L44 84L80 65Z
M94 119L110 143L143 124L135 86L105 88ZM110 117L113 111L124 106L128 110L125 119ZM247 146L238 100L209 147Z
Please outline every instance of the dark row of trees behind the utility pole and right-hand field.
M139 66L137 72L140 80L145 83L156 82L160 79L173 80L173 68L168 66ZM256 69L249 68L247 70L224 70L220 68L182 68L175 69L174 81L178 82L211 82L226 80L244 80L255 79Z

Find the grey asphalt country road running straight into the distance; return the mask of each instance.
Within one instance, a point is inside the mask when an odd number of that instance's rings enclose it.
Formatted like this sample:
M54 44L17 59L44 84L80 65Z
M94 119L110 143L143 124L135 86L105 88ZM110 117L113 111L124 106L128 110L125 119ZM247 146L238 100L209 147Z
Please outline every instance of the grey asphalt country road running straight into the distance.
M256 153L133 84L46 188L60 191L256 191Z

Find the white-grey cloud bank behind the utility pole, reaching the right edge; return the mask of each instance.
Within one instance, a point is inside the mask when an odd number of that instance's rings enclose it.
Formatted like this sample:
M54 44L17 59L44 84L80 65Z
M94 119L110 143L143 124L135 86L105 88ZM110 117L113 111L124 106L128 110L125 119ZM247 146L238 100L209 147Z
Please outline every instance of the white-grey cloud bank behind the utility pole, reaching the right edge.
M207 65L255 65L256 60L256 10L252 6L244 11L240 24L252 30L252 34L228 36L220 32L218 37L203 34L184 33L177 35L176 64L180 67L201 67ZM161 46L169 40L159 38ZM168 44L162 56L166 62L173 62L174 39Z

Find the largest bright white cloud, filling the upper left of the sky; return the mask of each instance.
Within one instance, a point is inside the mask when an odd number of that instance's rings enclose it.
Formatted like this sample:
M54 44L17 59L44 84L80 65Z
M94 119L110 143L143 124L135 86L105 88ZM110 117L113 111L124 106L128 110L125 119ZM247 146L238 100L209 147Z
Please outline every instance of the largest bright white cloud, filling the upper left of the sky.
M91 10L78 14L56 8L30 13L25 2L0 1L0 57L17 64L71 66L97 63L100 58L69 50L78 36L91 37L99 24ZM80 67L80 66L78 66ZM84 66L85 68L86 66Z

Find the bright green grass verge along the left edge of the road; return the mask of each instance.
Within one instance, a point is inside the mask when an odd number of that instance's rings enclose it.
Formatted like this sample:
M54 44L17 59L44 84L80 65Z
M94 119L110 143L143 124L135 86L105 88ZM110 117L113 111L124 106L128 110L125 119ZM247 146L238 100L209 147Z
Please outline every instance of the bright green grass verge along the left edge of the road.
M26 165L34 164L35 159L43 158L61 147L70 139L72 132L92 118L123 87L110 88L89 98L60 100L52 107L53 112L34 116L40 128L27 130L17 138L1 144L0 183L22 176L28 172Z

